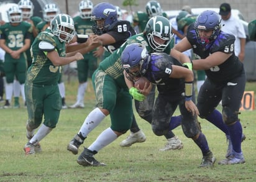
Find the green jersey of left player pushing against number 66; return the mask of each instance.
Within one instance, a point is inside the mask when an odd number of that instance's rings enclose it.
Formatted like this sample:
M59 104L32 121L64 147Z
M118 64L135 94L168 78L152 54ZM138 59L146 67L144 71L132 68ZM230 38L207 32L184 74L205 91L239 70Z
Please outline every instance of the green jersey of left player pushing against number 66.
M42 50L39 43L45 41L54 46L51 50ZM54 66L52 61L47 58L47 52L56 50L60 57L65 57L65 42L60 42L58 37L52 34L50 29L40 32L31 45L32 65L27 71L27 82L39 85L58 84L61 66Z

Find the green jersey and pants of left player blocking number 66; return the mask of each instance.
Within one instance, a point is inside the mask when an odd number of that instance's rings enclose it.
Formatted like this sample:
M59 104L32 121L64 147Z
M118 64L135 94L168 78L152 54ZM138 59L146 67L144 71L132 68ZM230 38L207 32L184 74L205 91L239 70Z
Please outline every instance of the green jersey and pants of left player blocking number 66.
M53 49L42 50L39 43L46 41L54 46ZM54 128L60 116L62 102L58 89L61 66L54 66L47 58L47 52L57 50L60 57L65 57L65 42L60 42L49 29L41 32L31 46L32 65L27 71L25 81L25 98L27 101L28 124L30 128L39 127L44 115L43 124Z

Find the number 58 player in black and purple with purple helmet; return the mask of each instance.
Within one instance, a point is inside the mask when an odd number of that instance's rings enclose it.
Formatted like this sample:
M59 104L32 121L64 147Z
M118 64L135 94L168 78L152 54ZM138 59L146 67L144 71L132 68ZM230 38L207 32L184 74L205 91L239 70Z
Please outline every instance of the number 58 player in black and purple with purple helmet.
M229 141L226 158L219 164L244 163L241 141L242 125L238 118L245 89L244 65L234 53L234 35L221 31L221 17L214 11L204 11L188 27L186 37L175 50L193 48L194 70L204 70L206 80L198 93L199 117L221 129ZM222 100L222 114L215 109Z

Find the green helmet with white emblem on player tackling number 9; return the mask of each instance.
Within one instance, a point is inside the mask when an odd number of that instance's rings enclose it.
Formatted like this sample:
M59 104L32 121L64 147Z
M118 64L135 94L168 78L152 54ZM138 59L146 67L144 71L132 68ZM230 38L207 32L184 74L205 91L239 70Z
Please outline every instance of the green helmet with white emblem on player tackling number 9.
M171 33L171 24L166 17L154 16L148 22L144 30L144 35L146 35L149 45L156 52L164 52L171 39L173 39L173 34ZM158 43L155 37L159 37L165 40L164 43Z

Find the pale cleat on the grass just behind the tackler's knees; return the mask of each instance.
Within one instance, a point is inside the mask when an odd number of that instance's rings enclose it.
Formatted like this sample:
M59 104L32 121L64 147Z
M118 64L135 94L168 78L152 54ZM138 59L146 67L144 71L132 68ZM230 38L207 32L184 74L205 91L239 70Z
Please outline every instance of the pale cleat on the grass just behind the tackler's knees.
M141 143L145 142L146 136L142 130L139 130L139 132L130 132L130 135L125 139L122 140L122 142L119 144L121 147L130 147L130 145L134 143Z

